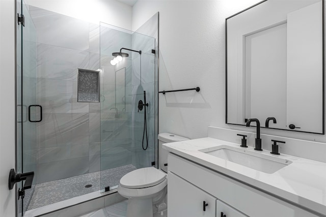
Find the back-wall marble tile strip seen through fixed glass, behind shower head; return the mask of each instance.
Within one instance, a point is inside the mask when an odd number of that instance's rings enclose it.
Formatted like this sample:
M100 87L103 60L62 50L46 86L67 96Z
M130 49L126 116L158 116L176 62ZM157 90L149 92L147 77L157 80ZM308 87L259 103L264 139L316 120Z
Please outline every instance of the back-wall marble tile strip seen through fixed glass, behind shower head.
M123 58L115 66L110 63L113 52L119 52L122 47L131 47L131 36L128 31L102 23L100 38L101 94L103 95L100 117L102 129L100 161L101 170L107 170L132 163L131 59ZM119 77L124 79L118 82Z

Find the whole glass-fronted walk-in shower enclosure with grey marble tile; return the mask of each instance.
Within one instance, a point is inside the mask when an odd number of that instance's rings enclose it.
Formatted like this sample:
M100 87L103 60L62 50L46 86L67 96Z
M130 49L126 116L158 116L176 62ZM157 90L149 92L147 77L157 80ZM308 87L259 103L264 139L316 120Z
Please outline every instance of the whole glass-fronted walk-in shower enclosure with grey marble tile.
M17 200L18 216L91 192L114 190L124 174L157 165L155 39L20 0L17 13L24 23L16 26L16 172L35 173L32 187ZM124 50L128 57L111 65L112 53L121 48L142 53ZM94 76L99 82L94 83ZM87 99L90 82L99 91L96 102ZM86 91L83 102L78 98L81 90ZM147 132L145 110L138 109L144 92ZM17 186L22 192L23 183Z

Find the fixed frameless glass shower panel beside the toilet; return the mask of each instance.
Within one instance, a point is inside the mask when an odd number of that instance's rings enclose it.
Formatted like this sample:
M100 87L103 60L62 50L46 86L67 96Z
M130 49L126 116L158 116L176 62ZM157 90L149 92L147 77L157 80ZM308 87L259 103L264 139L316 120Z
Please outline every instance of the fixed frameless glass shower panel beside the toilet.
M117 188L126 173L155 164L152 49L155 49L154 38L100 23L101 191ZM112 65L113 53L120 50L128 56ZM145 103L145 96L148 106L139 109L139 102Z

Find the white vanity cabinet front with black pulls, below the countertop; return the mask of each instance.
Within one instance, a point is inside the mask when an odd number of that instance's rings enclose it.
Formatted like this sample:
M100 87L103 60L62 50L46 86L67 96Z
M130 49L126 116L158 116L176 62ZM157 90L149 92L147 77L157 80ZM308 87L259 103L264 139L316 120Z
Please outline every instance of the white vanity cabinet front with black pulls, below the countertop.
M168 163L169 217L220 217L221 212L226 217L321 216L253 188L255 183L243 183L203 167L200 161L194 163L169 153ZM203 201L209 201L205 212Z

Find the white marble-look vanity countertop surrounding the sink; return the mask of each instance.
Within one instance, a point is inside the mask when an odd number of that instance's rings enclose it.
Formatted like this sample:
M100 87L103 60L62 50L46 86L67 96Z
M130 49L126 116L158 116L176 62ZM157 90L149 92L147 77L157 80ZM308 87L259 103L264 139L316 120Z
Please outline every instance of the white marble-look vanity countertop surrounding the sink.
M268 174L203 152L228 145L254 151L276 159L292 161L290 165ZM271 194L326 215L326 163L298 158L287 154L275 156L269 150L256 151L253 147L213 138L201 138L166 143L163 148L200 165L254 185ZM201 151L200 151L201 150ZM307 147L307 151L309 151Z

